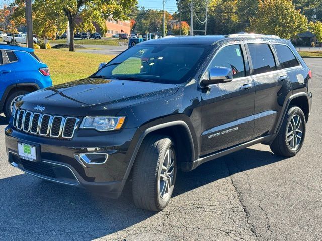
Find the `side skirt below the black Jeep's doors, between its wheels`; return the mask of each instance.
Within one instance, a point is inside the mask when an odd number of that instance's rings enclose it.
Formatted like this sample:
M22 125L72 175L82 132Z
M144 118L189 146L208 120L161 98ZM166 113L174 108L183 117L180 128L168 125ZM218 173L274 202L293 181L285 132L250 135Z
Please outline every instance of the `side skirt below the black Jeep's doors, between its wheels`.
M208 161L217 159L219 157L228 155L230 153L242 150L244 148L247 148L249 146L255 145L257 143L268 143L270 140L272 140L272 138L274 138L274 134L267 135L267 136L264 136L264 137L259 137L259 138L256 138L256 139L252 140L252 141L245 142L245 143L239 144L237 146L230 147L230 148L227 148L225 150L215 152L215 153L210 154L208 156L201 157L201 158L199 158L199 159L197 159L197 160L195 160L193 162L182 162L182 164L181 164L182 165L181 166L182 170L183 171L192 171L193 169L197 168L199 165L201 165L201 164L203 164L205 162L208 162Z

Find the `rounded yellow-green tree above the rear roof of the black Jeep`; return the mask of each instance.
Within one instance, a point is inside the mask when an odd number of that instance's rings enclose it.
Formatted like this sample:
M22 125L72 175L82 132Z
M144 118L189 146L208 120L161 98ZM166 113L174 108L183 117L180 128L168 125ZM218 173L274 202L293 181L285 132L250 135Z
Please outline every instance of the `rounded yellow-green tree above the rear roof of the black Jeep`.
M296 10L291 0L260 0L250 30L289 39L307 30L307 18Z

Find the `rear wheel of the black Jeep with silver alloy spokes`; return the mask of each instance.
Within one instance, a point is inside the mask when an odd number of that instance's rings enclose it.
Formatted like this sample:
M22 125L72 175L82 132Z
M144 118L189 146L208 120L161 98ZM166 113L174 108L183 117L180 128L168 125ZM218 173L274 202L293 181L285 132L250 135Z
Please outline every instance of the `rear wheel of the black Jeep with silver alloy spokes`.
M297 107L291 107L282 124L280 132L270 145L272 152L278 156L295 156L302 148L306 131L305 115Z

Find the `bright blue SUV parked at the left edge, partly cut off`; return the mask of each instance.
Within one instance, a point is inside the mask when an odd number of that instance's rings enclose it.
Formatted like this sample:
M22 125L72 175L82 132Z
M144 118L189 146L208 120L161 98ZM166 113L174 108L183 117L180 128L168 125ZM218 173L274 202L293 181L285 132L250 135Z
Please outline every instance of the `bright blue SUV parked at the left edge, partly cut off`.
M0 113L7 117L20 96L52 85L48 66L33 49L0 44Z

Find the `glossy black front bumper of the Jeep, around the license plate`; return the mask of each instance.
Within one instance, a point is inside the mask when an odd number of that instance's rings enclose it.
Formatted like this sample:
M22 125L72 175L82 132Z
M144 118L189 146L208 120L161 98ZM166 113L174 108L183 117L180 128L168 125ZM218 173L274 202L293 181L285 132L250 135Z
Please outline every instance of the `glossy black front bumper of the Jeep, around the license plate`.
M127 179L127 156L130 156L128 149L136 129L84 137L91 131L78 132L81 135L76 135L72 140L62 140L27 134L7 127L5 136L8 161L33 176L117 198ZM35 145L38 161L21 159L18 156L18 142ZM102 147L103 143L106 146ZM85 153L106 153L108 159L102 164L88 164L75 158Z

